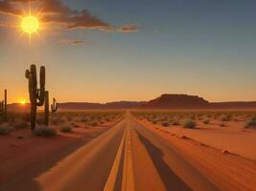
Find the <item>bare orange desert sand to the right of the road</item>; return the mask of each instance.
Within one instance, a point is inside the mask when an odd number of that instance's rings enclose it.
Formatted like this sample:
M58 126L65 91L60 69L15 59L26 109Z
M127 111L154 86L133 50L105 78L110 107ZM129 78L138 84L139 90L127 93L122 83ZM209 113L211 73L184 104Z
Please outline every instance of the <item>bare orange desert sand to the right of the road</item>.
M147 119L137 119L143 126L175 146L202 174L223 190L256 190L255 130L244 130L244 122L197 121L196 129L182 125L163 127ZM254 142L254 143L253 143Z

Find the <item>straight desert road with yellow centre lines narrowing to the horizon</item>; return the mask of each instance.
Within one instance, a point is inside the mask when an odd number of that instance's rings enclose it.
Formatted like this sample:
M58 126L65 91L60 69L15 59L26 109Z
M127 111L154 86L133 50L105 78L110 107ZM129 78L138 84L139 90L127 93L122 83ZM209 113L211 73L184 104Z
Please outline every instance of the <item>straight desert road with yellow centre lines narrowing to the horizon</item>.
M24 171L24 175L0 185L0 190L208 191L218 188L164 139L128 114L115 127L47 171L36 177Z

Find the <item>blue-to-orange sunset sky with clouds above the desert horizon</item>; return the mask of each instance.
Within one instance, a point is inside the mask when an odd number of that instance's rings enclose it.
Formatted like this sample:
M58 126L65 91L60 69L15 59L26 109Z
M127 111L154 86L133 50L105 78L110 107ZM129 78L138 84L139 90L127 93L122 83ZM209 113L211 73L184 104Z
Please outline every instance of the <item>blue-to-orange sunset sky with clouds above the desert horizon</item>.
M46 67L58 101L256 100L254 0L0 0L0 99L29 101L25 70ZM22 18L39 20L22 32ZM39 12L39 13L38 13Z

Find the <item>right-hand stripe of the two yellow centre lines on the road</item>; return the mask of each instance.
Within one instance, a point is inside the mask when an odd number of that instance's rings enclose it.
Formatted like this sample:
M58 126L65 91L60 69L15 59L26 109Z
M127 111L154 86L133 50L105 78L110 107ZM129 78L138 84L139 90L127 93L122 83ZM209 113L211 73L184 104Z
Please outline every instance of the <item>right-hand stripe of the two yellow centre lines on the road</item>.
M133 177L133 165L131 158L131 148L130 148L130 131L129 131L129 120L127 126L127 138L125 144L125 161L123 169L123 180L122 180L122 191L134 191L134 177Z

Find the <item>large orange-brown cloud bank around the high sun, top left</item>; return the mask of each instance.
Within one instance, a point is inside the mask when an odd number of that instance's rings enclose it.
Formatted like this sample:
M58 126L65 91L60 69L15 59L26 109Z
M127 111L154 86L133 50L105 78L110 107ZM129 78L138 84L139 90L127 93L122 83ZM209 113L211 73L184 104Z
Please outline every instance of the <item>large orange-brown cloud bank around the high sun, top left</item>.
M38 13L42 24L54 24L61 30L100 30L105 32L138 32L135 25L125 25L114 28L101 18L87 10L74 10L64 5L61 0L0 0L0 13L12 16L22 16L24 5L31 3ZM21 4L21 5L19 5ZM1 27L3 27L2 25Z

